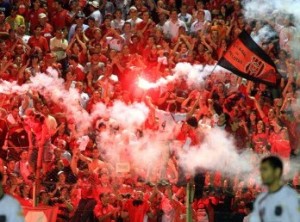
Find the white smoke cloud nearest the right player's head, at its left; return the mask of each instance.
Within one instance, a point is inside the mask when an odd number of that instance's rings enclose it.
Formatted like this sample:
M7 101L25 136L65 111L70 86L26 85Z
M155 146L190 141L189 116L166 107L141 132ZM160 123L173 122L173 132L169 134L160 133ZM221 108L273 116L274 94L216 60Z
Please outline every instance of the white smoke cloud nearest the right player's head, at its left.
M212 128L204 133L201 145L192 147L180 155L180 162L187 172L194 173L197 168L216 170L229 175L254 171L252 153L239 154L234 139L223 129Z

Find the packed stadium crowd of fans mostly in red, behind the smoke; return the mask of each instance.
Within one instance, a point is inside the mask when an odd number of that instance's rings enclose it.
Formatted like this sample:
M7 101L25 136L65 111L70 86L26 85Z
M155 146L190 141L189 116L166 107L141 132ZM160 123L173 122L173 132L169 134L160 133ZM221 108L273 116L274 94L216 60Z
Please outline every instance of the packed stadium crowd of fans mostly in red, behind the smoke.
M176 122L180 129L172 140L199 145L202 128L218 127L235 138L241 152L251 148L289 160L300 151L300 112L293 108L300 87L299 58L290 44L293 18L275 12L265 21L249 21L243 15L241 2L231 0L0 0L0 77L22 85L51 67L64 79L65 89L77 89L78 102L88 113L99 102L144 101L150 113L135 139ZM259 34L265 27L275 33L272 38ZM274 60L280 87L228 72L213 73L196 89L184 80L137 89L140 75L155 82L172 75L180 62L216 64L242 30ZM47 95L2 93L0 107L0 171L6 192L32 206L38 167L38 205L59 206L58 221L185 221L187 181L196 189L194 221L218 221L217 212L242 221L260 191L220 172L200 170L191 179L172 152L167 176L152 180L134 168L118 174L98 136L109 131L115 137L124 130L112 119L95 121L80 150L76 121ZM299 173L291 184L299 188Z

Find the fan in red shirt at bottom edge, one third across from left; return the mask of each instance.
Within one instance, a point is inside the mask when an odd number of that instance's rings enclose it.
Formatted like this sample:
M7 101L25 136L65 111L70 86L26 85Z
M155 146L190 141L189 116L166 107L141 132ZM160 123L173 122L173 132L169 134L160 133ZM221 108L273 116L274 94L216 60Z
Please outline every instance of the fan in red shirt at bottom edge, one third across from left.
M116 218L117 209L109 204L109 193L99 195L100 202L94 208L95 217L102 222L111 222Z

